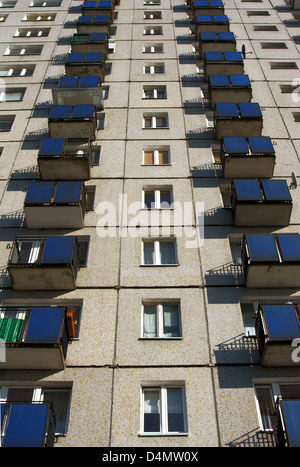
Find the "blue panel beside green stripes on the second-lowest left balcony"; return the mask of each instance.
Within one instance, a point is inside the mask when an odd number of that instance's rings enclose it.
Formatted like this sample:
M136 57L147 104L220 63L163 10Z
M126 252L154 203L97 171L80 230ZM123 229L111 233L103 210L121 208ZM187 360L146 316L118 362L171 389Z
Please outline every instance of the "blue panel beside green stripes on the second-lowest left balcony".
M24 342L55 344L61 336L63 308L32 308Z

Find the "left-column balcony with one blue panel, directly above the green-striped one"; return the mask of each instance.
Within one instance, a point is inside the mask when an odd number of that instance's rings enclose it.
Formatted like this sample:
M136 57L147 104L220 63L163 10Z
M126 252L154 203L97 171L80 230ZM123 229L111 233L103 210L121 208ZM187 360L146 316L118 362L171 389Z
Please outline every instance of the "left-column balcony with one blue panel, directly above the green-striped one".
M76 236L18 237L8 260L14 290L74 290L81 263Z

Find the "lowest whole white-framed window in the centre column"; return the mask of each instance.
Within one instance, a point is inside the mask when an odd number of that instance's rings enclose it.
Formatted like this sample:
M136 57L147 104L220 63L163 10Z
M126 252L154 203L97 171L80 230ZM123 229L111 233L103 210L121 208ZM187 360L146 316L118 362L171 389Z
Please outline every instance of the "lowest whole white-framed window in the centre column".
M186 433L185 391L182 385L142 388L142 433Z

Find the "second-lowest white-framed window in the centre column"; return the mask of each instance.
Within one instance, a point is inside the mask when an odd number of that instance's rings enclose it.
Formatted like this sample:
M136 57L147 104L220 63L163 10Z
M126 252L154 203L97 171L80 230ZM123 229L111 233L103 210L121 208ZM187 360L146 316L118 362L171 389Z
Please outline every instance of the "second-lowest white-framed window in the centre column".
M179 303L144 303L143 337L181 337Z

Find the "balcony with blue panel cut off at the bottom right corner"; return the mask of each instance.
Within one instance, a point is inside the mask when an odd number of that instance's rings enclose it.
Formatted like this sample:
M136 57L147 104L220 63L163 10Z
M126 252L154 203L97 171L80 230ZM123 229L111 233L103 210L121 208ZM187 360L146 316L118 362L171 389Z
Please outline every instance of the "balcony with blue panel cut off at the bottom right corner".
M300 446L300 400L277 398L273 430L277 447Z

